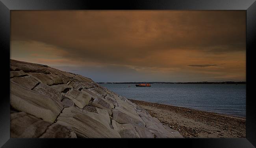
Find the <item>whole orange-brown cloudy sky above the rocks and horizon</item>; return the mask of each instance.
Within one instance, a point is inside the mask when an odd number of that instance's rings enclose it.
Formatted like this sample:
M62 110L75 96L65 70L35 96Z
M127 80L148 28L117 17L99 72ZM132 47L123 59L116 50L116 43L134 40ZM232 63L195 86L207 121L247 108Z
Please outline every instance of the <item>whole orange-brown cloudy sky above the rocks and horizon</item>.
M10 59L95 82L246 80L246 11L11 11Z

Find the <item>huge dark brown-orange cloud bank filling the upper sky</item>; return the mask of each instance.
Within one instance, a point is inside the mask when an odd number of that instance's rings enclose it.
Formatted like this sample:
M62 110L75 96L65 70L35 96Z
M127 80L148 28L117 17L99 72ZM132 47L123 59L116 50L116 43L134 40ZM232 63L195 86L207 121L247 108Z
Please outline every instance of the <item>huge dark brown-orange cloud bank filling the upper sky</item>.
M245 11L11 11L16 40L54 45L69 60L152 66L140 61L179 49L244 51Z

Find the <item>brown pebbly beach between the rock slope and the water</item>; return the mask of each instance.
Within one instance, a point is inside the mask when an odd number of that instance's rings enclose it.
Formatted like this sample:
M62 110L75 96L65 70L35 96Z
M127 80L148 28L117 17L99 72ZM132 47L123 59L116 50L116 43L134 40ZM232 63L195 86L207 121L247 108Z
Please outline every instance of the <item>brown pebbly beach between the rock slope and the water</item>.
M246 119L184 107L129 99L185 138L245 138Z

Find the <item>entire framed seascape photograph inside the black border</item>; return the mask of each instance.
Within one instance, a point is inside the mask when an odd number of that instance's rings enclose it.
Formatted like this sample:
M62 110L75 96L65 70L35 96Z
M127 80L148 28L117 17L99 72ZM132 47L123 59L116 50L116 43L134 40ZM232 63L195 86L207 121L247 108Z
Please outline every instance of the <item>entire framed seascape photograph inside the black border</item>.
M11 11L10 137L246 138L246 11Z

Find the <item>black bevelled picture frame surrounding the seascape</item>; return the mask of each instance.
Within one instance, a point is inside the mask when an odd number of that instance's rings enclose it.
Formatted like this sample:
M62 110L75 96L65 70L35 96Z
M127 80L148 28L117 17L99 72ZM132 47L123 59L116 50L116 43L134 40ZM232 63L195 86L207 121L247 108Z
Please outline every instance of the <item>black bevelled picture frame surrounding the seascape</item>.
M245 10L246 11L246 138L184 139L24 139L10 138L10 11L11 10ZM82 144L93 147L189 146L208 148L256 147L255 0L0 0L0 49L2 88L0 98L0 146L60 147ZM110 142L111 140L111 142Z

